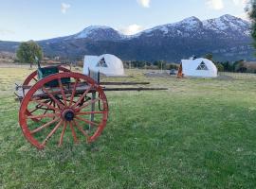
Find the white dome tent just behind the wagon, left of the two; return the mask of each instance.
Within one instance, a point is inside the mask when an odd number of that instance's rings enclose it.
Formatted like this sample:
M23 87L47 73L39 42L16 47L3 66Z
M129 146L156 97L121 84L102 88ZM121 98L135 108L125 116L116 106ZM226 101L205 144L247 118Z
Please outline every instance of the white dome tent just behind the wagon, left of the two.
M110 54L104 54L99 57L86 55L83 62L83 74L88 75L88 70L100 72L110 77L124 76L122 61Z

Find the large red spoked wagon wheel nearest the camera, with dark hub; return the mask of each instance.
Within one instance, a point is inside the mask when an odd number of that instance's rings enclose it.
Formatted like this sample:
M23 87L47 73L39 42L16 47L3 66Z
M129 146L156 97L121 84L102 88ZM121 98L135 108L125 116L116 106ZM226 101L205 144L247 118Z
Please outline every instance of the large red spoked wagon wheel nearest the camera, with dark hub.
M52 81L57 85L48 87ZM27 110L31 112L35 106L51 112L40 110L27 114ZM59 146L68 136L73 137L75 143L80 138L93 142L101 135L107 117L107 99L101 86L90 77L64 72L45 77L30 88L21 104L19 123L27 140L42 149L50 138L51 144ZM40 121L36 123L33 119Z

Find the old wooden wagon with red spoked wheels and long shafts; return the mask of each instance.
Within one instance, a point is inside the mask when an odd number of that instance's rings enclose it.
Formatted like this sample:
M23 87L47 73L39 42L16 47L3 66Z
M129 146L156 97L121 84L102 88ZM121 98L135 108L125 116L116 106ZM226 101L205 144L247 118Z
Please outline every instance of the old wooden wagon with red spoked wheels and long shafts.
M89 77L90 76L90 77ZM20 100L19 124L27 141L43 149L50 138L62 146L64 137L75 143L95 141L105 128L108 103L105 91L166 90L163 88L107 88L147 82L101 82L100 73L84 76L63 66L48 66L31 73L15 94ZM71 131L66 131L69 129Z

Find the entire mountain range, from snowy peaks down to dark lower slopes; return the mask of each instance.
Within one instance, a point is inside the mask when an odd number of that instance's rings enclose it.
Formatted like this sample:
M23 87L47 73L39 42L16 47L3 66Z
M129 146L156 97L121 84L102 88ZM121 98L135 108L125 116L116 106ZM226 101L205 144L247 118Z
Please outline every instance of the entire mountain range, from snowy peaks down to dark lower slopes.
M255 60L250 23L229 14L205 21L190 17L132 36L109 26L89 26L77 34L39 43L46 55L68 59L111 53L123 60L179 61L212 53L216 60ZM8 44L12 43L0 42L0 50L15 49L5 48Z

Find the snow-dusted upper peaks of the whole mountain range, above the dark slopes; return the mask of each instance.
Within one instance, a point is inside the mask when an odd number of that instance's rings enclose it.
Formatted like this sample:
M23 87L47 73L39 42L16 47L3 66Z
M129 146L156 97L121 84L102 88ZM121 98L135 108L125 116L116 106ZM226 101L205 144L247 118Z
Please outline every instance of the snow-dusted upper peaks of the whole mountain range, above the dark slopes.
M198 18L192 16L174 24L155 26L132 36L125 36L109 26L88 26L75 35L65 37L64 40L90 39L94 41L117 41L131 40L141 36L152 37L154 35L186 37L191 32L193 32L193 35L204 35L213 32L223 34L224 37L229 37L229 34L245 34L248 36L250 35L250 25L247 21L229 14L205 21L200 21Z

